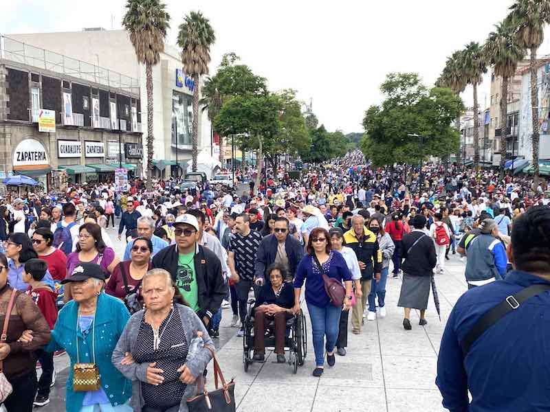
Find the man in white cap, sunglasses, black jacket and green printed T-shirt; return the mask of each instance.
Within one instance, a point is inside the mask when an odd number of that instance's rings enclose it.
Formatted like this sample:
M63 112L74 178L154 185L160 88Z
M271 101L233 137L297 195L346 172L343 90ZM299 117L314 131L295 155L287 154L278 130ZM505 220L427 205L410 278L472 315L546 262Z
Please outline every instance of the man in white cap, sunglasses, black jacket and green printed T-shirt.
M155 255L153 268L170 272L181 295L209 329L226 293L221 262L214 252L197 242L200 228L195 216L177 216L174 227L176 244Z

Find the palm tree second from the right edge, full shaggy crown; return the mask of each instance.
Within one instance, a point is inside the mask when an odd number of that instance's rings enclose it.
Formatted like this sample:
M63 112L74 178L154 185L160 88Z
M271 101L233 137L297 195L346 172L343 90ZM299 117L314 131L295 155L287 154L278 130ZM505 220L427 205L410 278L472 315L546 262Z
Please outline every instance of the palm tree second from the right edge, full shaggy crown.
M506 124L508 106L508 80L514 77L518 62L525 57L525 47L520 45L511 19L495 25L485 43L487 60L494 65L495 76L502 78L500 90L500 171L504 174L506 160Z

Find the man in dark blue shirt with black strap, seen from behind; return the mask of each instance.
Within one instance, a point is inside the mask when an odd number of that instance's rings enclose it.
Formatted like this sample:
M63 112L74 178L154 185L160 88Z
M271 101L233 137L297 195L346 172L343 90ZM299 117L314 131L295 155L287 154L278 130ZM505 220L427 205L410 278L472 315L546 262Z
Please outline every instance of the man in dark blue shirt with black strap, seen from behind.
M451 412L549 410L549 207L514 221L507 255L514 271L468 290L445 326L436 384Z

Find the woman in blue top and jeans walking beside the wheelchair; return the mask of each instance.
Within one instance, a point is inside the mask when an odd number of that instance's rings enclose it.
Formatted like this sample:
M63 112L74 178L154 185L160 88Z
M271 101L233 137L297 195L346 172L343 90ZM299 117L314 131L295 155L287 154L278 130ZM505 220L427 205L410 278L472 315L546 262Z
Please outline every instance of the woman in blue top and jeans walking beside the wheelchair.
M344 282L346 286L346 297L344 307L334 306L325 291L325 282L322 279L321 270L316 263L315 257L321 264L323 271L329 277ZM316 368L314 376L321 376L325 364L325 353L327 350L327 363L334 366L334 346L338 339L338 326L340 323L340 312L349 310L351 307L351 273L340 252L331 250L331 238L329 232L322 227L316 227L309 233L307 241L307 255L298 264L296 277L294 277L294 312L300 310L300 294L305 282L305 301L311 318L311 334L313 335ZM325 344L325 336L327 342ZM325 344L325 345L324 345Z

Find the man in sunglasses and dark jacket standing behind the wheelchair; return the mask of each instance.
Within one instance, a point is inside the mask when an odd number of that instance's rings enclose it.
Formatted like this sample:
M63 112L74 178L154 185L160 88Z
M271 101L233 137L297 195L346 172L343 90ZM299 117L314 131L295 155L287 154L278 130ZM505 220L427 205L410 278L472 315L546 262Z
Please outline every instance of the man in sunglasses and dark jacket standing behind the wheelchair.
M294 236L289 236L288 219L278 216L275 219L273 234L265 236L258 247L254 265L256 279L265 279L266 268L272 263L278 263L285 266L289 274L290 279L284 280L292 281L303 256L304 248L300 242Z

